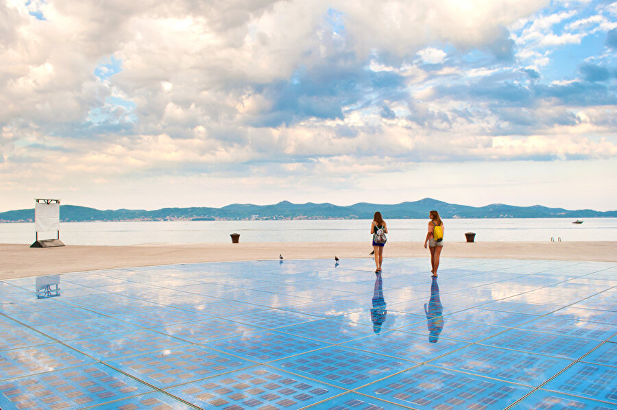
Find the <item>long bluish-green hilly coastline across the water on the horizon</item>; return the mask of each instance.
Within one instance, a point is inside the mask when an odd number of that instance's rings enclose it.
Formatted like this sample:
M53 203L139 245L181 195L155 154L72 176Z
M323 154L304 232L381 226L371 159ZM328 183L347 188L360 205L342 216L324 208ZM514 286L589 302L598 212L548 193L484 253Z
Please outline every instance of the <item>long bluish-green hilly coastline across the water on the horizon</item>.
M332 204L292 204L282 201L272 205L231 204L222 208L162 208L157 210L117 209L99 210L85 206L61 205L60 220L83 221L176 221L176 220L240 220L240 219L371 219L380 210L387 219L423 219L431 209L439 210L444 218L589 218L617 217L617 210L599 212L592 209L567 210L546 206L511 206L491 204L475 207L448 204L424 198L415 202L394 205L360 202L350 206ZM32 222L34 208L0 213L0 222Z

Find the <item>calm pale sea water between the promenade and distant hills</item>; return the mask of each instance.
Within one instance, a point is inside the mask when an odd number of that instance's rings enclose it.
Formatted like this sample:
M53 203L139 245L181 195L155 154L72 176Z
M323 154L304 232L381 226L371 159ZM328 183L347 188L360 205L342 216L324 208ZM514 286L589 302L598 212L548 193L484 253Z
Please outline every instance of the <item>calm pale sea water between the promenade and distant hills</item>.
M617 218L444 219L446 241L617 241ZM428 219L387 219L389 241L424 241ZM136 245L142 243L356 242L370 241L370 220L328 221L170 221L74 222L60 224L66 245ZM39 235L39 239L55 237ZM34 224L0 224L0 243L32 243Z

